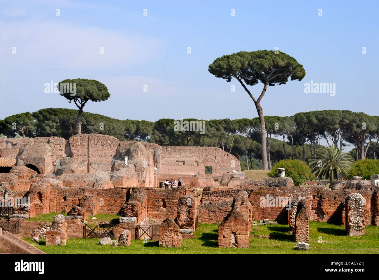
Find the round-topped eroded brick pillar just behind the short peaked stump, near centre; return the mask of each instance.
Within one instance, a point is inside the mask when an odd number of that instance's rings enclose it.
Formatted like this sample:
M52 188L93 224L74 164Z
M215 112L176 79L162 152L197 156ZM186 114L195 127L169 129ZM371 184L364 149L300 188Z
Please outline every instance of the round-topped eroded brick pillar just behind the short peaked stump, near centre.
M184 195L178 201L178 215L175 222L183 233L193 233L196 227L196 198Z

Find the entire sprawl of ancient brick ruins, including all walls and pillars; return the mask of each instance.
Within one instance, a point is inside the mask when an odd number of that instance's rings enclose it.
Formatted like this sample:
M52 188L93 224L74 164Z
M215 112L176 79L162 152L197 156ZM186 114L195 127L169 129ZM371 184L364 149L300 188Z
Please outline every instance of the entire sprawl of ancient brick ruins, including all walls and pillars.
M4 158L13 165L0 173L0 193L22 198L9 222L18 221L23 237L45 238L47 245L57 245L57 237L61 245L82 238L88 216L96 214L121 216L113 221L115 239L129 232L130 239L167 247L193 238L198 222L219 223L219 247L237 248L249 246L251 221L288 224L296 241L309 239L309 221L343 223L348 235L379 226L376 177L375 185L354 178L332 189L295 186L283 172L249 180L238 159L216 147L161 147L97 134L69 140L0 138ZM165 179L181 179L183 186L160 188ZM51 212L67 216L53 222L29 219Z

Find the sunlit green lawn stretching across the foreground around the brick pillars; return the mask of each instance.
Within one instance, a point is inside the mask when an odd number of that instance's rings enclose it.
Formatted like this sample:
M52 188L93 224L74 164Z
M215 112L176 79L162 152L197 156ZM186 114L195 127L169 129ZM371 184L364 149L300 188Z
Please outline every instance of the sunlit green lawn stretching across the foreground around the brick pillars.
M309 223L309 251L294 250L296 242L288 232L288 225L252 226L252 234L285 235L284 239L251 238L250 247L243 249L218 248L218 224L199 224L194 235L197 238L183 239L181 248L160 248L157 241L146 244L132 240L129 247L97 245L99 239L68 239L66 246L45 246L29 238L25 241L46 253L377 253L379 250L379 227L366 227L362 236L346 236L345 227L329 223ZM319 236L323 243L318 243Z

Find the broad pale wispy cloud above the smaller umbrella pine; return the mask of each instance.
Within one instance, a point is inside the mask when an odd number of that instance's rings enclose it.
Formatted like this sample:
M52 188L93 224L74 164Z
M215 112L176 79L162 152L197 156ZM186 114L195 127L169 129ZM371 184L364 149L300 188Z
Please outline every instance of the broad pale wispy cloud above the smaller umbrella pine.
M15 59L13 47L25 67L66 70L128 69L164 54L164 43L159 39L98 27L79 27L56 20L0 24L0 50L5 64L12 64Z

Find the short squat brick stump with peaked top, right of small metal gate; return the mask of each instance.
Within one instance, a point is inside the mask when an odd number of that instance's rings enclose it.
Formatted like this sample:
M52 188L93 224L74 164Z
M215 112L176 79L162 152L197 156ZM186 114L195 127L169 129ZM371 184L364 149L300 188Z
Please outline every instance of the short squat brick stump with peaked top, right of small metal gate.
M172 219L166 219L159 226L160 247L182 247L182 235L179 226Z

